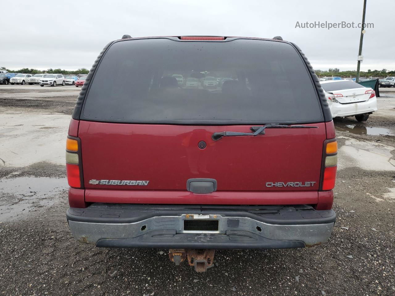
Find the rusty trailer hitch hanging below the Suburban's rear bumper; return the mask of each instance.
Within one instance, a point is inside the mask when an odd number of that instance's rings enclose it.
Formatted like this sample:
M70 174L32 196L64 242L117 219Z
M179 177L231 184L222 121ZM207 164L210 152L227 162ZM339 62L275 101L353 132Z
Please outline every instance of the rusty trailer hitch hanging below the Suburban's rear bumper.
M213 266L215 250L209 249L169 249L169 259L179 265L188 258L188 264L196 272L205 272Z

